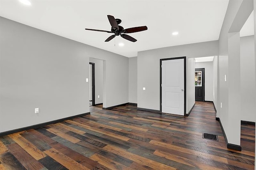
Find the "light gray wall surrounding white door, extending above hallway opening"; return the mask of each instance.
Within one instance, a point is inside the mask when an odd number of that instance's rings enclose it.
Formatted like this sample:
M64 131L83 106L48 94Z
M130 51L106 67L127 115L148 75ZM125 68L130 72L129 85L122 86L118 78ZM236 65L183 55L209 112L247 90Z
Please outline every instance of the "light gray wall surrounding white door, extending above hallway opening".
M184 56L194 58L213 55L218 55L218 41L178 45L138 52L138 107L160 110L160 59ZM146 87L146 90L143 91L142 87ZM187 96L186 98L188 100L190 97ZM190 109L187 107L187 112Z

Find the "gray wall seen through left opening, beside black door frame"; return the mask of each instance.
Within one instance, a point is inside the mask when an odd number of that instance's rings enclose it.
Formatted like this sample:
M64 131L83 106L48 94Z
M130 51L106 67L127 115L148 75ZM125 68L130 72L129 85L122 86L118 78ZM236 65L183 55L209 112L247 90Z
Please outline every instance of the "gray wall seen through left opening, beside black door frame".
M95 104L103 103L103 60L90 57L89 61L95 63Z

